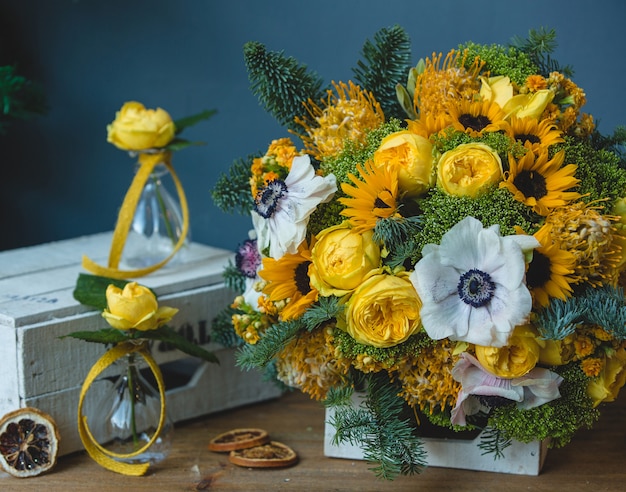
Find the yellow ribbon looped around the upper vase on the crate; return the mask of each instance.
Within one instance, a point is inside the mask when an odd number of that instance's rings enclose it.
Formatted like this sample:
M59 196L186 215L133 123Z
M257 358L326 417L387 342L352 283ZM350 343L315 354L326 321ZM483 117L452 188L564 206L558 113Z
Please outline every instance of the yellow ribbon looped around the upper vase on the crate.
M172 252L162 261L155 263L149 267L139 268L136 270L120 270L119 264L126 245L126 239L130 230L135 210L137 209L137 203L141 197L146 182L150 178L154 168L157 164L163 163L172 176L172 180L176 186L178 198L180 200L180 207L183 215L183 228L177 243L174 245ZM171 152L157 152L157 153L141 153L139 154L139 170L135 174L133 181L126 192L122 207L120 208L117 223L115 224L115 230L113 231L113 238L111 240L111 249L109 251L108 266L104 267L98 265L96 262L83 256L83 268L103 277L115 278L115 279L127 279L143 277L148 275L159 268L163 267L168 261L170 261L178 250L185 243L187 233L189 231L189 207L187 205L187 197L183 186L178 179L174 167L171 163Z

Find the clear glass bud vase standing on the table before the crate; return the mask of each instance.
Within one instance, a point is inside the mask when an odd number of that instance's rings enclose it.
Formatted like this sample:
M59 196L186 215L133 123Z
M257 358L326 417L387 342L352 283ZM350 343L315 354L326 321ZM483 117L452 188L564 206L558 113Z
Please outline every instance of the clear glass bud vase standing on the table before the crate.
M143 358L127 354L113 365L119 376L105 392L89 416L89 421L100 428L103 447L113 453L130 454L144 447L158 429L161 416L159 392L143 376L140 366ZM163 461L171 448L174 425L165 416L164 425L154 443L141 454L116 458L125 463L156 464Z

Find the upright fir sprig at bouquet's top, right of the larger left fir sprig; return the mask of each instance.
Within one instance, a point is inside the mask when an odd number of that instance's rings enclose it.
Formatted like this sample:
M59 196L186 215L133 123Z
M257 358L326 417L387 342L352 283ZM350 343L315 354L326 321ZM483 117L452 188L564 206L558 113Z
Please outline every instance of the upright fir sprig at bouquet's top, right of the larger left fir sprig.
M366 40L363 59L353 69L359 85L371 91L386 119L403 118L404 110L396 96L396 85L404 83L411 66L411 42L400 26L383 28Z

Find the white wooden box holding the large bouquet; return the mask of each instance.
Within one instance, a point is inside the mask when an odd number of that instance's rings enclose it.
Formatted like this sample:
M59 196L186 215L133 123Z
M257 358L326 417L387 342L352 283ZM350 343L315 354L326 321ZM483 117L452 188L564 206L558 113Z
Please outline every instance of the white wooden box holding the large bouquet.
M358 400L353 397L353 403ZM334 410L326 410L324 425L324 455L331 458L364 459L363 450L349 443L333 444L335 429L329 423ZM539 475L547 454L547 441L528 444L513 442L504 450L504 457L494 459L492 454L482 454L478 447L481 436L473 440L422 438L428 453L428 466L460 468L518 475Z

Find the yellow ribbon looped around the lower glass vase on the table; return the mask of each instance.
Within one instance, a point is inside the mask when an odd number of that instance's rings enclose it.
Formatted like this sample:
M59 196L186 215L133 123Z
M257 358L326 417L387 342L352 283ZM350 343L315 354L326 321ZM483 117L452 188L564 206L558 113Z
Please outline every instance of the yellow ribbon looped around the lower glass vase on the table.
M87 417L83 415L83 403L89 387L96 380L96 378L116 360L131 353L137 353L138 355L142 356L147 362L148 367L150 367L150 370L154 374L161 401L161 413L159 416L157 429L155 430L150 440L144 446L136 451L133 451L132 453L114 453L113 451L109 451L108 449L103 447L93 436L91 430L89 429L89 426L87 425ZM161 374L161 370L159 369L158 364L156 363L152 355L150 355L150 352L148 351L145 343L135 344L132 342L123 342L115 345L113 348L105 352L104 355L102 355L102 357L100 357L100 359L98 359L98 361L89 370L89 373L87 374L87 377L83 382L83 386L80 390L80 396L78 399L78 434L89 456L100 466L106 468L107 470L120 473L122 475L139 477L144 475L148 471L148 468L150 467L149 463L132 464L124 463L118 460L129 459L139 456L140 454L146 452L150 448L150 446L155 443L165 424L165 412L165 384L163 382L163 375Z

